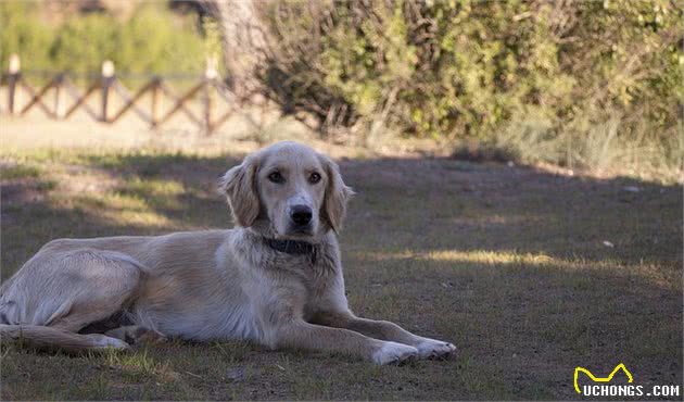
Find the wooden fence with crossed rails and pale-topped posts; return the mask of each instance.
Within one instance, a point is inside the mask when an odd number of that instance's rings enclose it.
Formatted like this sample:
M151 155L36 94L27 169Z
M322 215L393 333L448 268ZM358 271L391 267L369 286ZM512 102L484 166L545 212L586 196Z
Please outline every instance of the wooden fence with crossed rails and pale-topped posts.
M26 72L31 74L31 72ZM99 76L89 76L90 83L84 91L74 84L74 75L67 73L47 72L48 80L42 87L35 88L26 79L26 73L21 71L21 62L16 54L10 56L10 66L2 74L2 85L7 85L7 108L0 112L10 115L25 115L31 109L38 108L50 118L66 120L77 110L85 111L97 122L113 124L128 112L135 112L142 121L150 124L151 128L159 128L167 123L174 115L182 113L200 129L207 134L213 133L224 124L245 100L252 101L253 97L238 97L219 79L216 61L208 60L204 76L190 89L176 95L162 76L148 76L147 81L134 93L124 86L114 73L114 64L111 61L102 63ZM28 102L18 105L17 91L24 90L28 95ZM46 100L48 92L53 93L52 105ZM112 95L116 93L123 100L118 108L114 109ZM215 95L214 95L215 93ZM149 95L148 108L143 108L142 98ZM71 98L67 102L66 96ZM92 97L99 97L99 108L93 109L88 104ZM160 108L161 97L170 100L170 108ZM200 100L202 115L188 106L193 100ZM228 106L227 111L218 114L216 100L223 100ZM258 102L257 102L258 103ZM197 109L197 108L195 108ZM224 106L225 109L225 106Z

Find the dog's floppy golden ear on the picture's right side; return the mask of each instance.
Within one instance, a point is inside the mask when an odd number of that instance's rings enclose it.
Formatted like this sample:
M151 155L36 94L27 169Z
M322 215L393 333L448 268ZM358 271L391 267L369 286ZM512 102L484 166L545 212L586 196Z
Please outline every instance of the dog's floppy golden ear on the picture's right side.
M338 164L328 156L321 155L320 158L328 176L321 215L330 228L339 233L342 229L344 215L346 215L346 203L354 191L342 181Z

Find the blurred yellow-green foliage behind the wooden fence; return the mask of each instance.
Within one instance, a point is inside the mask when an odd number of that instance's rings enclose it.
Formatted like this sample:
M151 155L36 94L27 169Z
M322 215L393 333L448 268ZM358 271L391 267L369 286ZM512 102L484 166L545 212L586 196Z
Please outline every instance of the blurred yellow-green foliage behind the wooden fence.
M39 4L0 2L0 61L20 54L24 70L98 73L112 60L118 73L200 73L206 38L191 17L164 3L143 5L125 21L107 13L76 14L56 26L39 16Z

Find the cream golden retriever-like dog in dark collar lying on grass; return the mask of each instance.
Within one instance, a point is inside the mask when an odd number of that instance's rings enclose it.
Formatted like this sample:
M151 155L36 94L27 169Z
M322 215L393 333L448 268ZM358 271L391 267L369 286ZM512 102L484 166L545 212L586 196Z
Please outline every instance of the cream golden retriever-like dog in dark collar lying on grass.
M219 181L232 229L43 246L0 287L0 335L64 351L243 339L377 364L454 353L350 310L337 234L353 191L331 159L278 142Z

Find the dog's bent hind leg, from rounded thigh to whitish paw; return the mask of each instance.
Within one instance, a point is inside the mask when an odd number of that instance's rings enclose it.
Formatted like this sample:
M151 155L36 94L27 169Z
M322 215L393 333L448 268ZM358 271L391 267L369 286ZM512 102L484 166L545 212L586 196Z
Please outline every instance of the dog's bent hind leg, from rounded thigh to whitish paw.
M0 310L7 310L3 321L10 325L0 332L39 347L125 349L119 339L76 332L135 301L143 276L144 267L123 253L41 250L3 287Z

